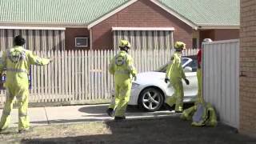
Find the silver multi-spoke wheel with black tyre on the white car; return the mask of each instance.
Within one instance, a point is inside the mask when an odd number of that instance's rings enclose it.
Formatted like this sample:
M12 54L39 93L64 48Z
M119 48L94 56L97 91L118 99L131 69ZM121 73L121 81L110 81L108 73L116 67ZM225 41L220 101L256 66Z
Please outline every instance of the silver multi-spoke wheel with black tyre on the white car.
M162 92L156 88L147 88L138 97L138 105L146 111L157 111L163 103Z

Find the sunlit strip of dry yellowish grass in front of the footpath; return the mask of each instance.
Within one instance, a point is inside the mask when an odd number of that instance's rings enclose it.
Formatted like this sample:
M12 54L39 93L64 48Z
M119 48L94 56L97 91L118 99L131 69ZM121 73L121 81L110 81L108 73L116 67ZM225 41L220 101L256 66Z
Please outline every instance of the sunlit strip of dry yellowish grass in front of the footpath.
M2 143L20 143L24 139L66 138L95 134L111 134L111 130L104 122L36 126L22 134L18 133L17 128L10 128L0 134L0 139Z

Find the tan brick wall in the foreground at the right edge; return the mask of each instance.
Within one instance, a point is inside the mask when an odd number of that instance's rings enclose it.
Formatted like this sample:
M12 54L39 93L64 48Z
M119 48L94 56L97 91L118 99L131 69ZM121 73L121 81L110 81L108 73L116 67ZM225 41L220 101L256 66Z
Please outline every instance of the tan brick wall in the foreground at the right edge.
M256 137L256 0L241 0L240 45L239 131Z

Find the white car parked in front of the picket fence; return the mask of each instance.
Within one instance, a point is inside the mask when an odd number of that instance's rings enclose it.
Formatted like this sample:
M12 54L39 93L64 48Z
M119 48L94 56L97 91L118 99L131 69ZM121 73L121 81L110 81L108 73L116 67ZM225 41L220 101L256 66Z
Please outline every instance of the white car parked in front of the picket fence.
M182 80L184 88L184 102L194 102L198 93L197 58L190 56L182 58L182 67L189 79L190 85ZM129 105L138 105L147 111L159 110L167 97L174 93L170 82L166 83L166 65L158 70L140 73L132 83Z

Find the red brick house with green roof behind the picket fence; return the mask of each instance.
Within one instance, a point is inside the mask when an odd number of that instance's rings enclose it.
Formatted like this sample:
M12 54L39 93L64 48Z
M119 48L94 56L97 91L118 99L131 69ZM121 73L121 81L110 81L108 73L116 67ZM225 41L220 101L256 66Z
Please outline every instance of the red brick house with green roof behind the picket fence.
M239 0L1 0L0 47L15 34L32 50L198 48L203 38L239 37Z

